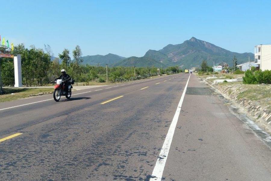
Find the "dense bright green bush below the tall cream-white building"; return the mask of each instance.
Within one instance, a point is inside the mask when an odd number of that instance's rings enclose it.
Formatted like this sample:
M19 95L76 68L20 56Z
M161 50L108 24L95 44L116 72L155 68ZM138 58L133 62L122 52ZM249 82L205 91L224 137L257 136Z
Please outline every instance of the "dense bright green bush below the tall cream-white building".
M244 84L271 84L271 70L247 70L243 77Z

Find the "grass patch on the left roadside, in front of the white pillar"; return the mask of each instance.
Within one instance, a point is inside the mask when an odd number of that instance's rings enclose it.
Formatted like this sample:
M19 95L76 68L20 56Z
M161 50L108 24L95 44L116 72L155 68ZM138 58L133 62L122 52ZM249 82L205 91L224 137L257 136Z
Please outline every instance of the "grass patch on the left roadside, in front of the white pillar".
M23 99L33 94L52 93L54 91L53 88L4 88L3 90L4 94L0 95L0 102Z

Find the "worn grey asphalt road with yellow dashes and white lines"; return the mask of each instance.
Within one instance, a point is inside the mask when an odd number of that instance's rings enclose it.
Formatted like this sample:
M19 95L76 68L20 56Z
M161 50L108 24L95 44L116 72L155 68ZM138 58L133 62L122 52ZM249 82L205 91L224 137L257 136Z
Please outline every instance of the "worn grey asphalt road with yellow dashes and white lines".
M270 148L188 78L1 103L0 180L271 180Z

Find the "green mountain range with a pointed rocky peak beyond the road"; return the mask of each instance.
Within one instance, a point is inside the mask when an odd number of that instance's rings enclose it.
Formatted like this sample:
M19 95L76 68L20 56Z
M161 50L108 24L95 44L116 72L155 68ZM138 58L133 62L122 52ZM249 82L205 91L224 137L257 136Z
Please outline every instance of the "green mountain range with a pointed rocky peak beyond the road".
M111 55L111 56L109 56ZM150 66L175 66L178 65L181 68L195 67L201 65L202 60L206 59L208 65L213 65L220 62L226 62L230 66L233 65L233 57L236 56L238 64L248 62L248 57L254 59L253 53L237 53L223 49L212 43L198 40L192 37L190 40L185 40L181 44L172 45L169 44L160 50L148 50L143 57L129 57L124 58L114 54L108 54L106 56L86 56L84 64L100 63L111 66L136 66L136 67L150 67ZM106 57L106 58L105 58ZM87 60L85 62L85 59Z

